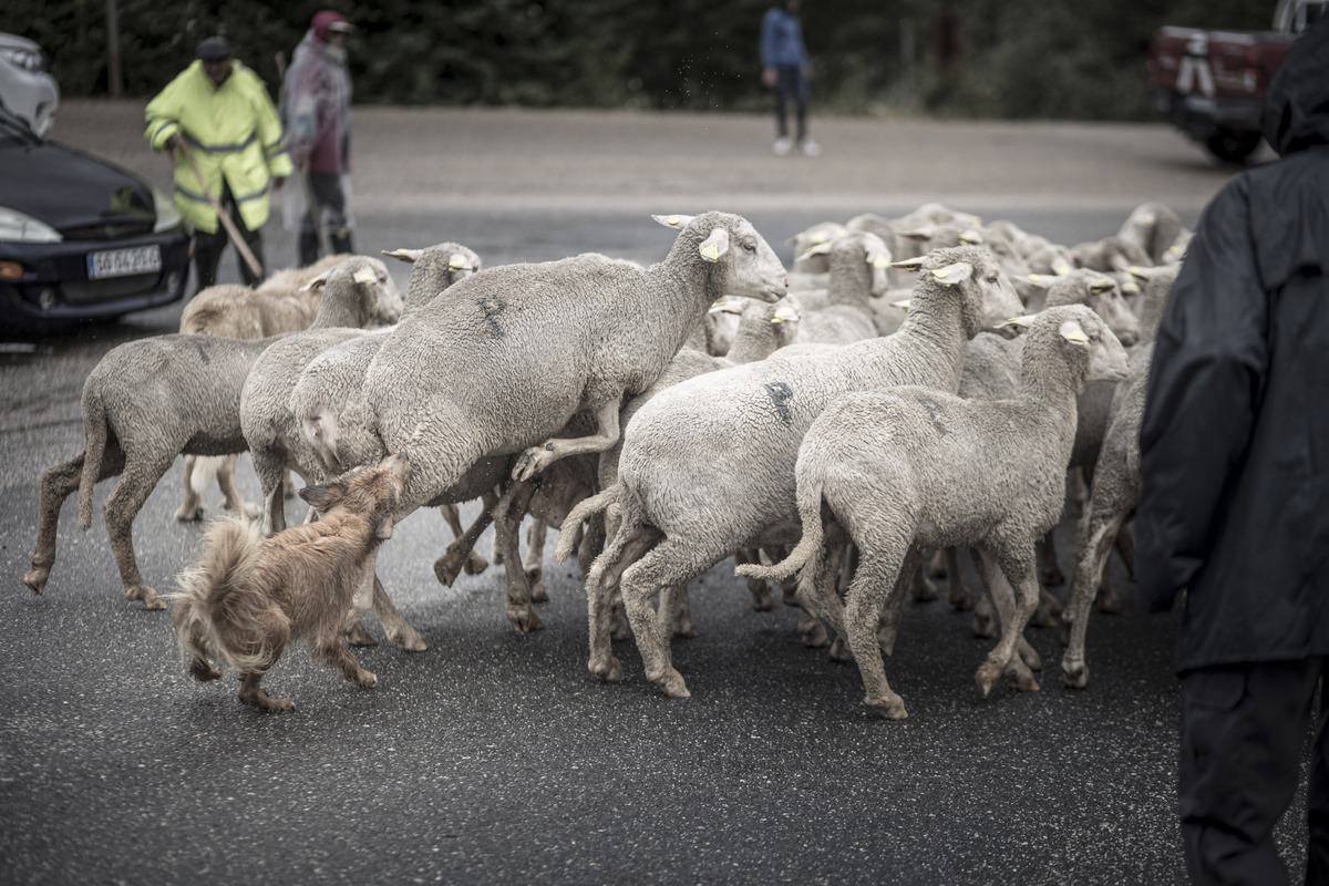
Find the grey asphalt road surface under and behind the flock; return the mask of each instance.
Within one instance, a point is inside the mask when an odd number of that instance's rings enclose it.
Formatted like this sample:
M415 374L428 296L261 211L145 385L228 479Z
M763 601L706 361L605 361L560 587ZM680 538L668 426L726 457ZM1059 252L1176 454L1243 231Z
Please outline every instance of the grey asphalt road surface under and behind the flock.
M167 183L141 120L134 102L68 102L53 135ZM651 211L739 211L776 244L926 199L1074 243L1144 199L1193 223L1231 175L1162 126L815 120L817 159L769 155L769 124L751 117L364 109L356 126L359 248L456 239L489 264L654 262L670 235ZM294 258L279 224L267 255ZM393 267L403 287L407 272ZM230 256L223 279L238 279ZM855 667L800 646L791 610L754 612L732 562L694 586L700 636L675 642L691 699L659 695L631 642L617 650L626 681L601 684L573 571L546 559L546 628L518 636L498 569L436 583L448 534L432 513L379 558L429 650L359 651L369 691L292 650L267 680L295 699L287 716L242 708L231 680L187 680L169 618L122 599L100 517L110 482L88 533L66 503L35 596L20 579L39 474L82 448L84 377L178 317L0 348L0 882L1184 881L1176 623L1146 618L1115 562L1128 608L1090 626L1087 691L1061 687L1059 638L1031 628L1042 691L982 699L990 642L944 602L910 604L888 660L902 723L860 704ZM247 460L241 481L256 499ZM171 519L179 484L167 474L136 522L159 591L202 534ZM215 490L205 503L219 506ZM1280 828L1289 859L1302 817L1298 797Z

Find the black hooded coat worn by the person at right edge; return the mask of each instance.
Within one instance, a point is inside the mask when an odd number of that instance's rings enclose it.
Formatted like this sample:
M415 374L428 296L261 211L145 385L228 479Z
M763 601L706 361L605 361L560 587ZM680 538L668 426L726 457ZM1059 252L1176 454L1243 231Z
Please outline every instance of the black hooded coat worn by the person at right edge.
M1140 430L1139 590L1187 588L1176 665L1329 655L1329 19L1271 85L1281 159L1205 209Z

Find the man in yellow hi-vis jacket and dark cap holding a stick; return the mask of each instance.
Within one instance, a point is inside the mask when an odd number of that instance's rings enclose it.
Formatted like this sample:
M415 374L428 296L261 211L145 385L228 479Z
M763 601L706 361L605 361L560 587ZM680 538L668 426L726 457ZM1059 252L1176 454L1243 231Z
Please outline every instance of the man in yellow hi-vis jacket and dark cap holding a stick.
M229 207L263 264L260 230L268 217L268 186L280 187L292 166L276 109L258 74L231 58L225 37L203 40L197 54L148 102L146 137L153 150L169 149L175 162L175 206L194 228L194 271L202 290L217 282L226 248L226 231L207 195ZM241 276L249 286L259 282L245 262Z

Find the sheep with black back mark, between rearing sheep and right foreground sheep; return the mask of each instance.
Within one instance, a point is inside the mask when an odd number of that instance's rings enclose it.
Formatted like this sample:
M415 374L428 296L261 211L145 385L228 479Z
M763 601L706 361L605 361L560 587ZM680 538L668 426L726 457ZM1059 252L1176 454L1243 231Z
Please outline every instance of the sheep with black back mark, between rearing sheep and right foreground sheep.
M650 598L662 591L661 612L671 612L679 588L735 550L796 539L799 444L835 397L908 383L954 392L965 343L1021 310L985 250L938 250L910 264L926 271L894 335L708 373L662 391L637 413L618 484L569 518L611 503L622 513L586 580L591 673L623 679L607 631L609 596L621 584L647 677L686 696L664 638L647 626Z

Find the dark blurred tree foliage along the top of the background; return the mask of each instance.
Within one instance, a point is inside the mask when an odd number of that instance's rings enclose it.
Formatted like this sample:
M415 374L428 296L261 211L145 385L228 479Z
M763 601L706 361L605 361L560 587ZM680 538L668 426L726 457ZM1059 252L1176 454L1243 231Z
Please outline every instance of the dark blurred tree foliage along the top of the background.
M771 0L380 0L336 7L356 101L744 110L766 108L760 19ZM152 96L225 33L268 84L330 0L117 0L125 93ZM36 40L66 96L105 94L106 4L5 0L0 31ZM1267 28L1272 0L808 0L819 106L1009 118L1147 117L1144 61L1163 24ZM902 37L913 33L906 58Z

